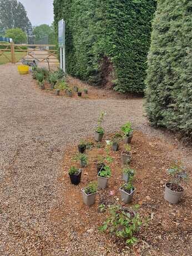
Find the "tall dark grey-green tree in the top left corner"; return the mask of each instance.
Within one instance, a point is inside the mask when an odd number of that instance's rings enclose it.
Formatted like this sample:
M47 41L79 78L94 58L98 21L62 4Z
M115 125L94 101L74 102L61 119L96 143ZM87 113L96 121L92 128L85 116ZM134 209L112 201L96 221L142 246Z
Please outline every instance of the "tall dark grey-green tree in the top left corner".
M27 32L30 26L31 22L21 2L17 0L0 0L0 31L2 33L9 28L21 28Z

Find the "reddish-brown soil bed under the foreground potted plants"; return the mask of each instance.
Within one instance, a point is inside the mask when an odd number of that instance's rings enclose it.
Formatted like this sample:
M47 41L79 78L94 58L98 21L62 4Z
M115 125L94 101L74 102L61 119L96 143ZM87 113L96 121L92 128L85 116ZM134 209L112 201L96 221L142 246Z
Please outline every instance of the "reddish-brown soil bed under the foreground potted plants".
M110 139L112 134L107 136ZM106 139L106 138L105 138ZM93 142L93 139L89 139ZM120 200L119 188L122 185L122 158L120 152L124 149L124 144L120 144L118 152L111 151L114 158L110 167L112 177L109 178L107 189L98 191L97 200L92 207L83 204L80 189L85 187L90 181L97 181L96 159L97 155L105 155L105 140L102 143L95 143L91 150L87 150L89 156L88 166L83 168L82 180L78 186L70 184L68 169L80 164L72 161L72 157L78 151L75 147L68 147L64 152L63 175L59 178L59 184L63 187L63 204L53 210L52 219L65 218L65 224L61 224L65 237L63 243L70 248L74 243L81 248L84 239L88 239L89 246L98 248L101 255L190 255L191 253L191 183L184 184L184 196L177 205L171 205L164 200L165 183L169 182L169 175L166 169L170 167L173 160L169 157L170 150L176 147L173 144L165 143L158 138L148 138L142 132L135 131L132 146L132 160L130 167L136 172L134 187L137 189L133 202L129 205L139 204L139 213L142 217L150 218L148 227L143 227L137 237L140 242L133 248L125 247L123 241L112 237L110 234L101 234L97 230L106 217L106 213L99 213L100 204L122 204ZM189 176L191 169L188 169ZM126 205L127 206L127 205ZM73 224L72 224L73 223ZM89 233L90 227L93 233ZM91 229L91 230L92 230ZM75 240L71 238L71 233L75 232ZM88 233L87 233L88 232ZM102 249L99 249L100 244ZM84 245L86 246L86 245ZM88 248L90 249L90 248ZM101 250L101 251L100 251ZM83 249L82 249L83 252ZM121 254L122 253L122 254ZM66 254L73 255L73 254ZM83 255L83 254L74 254ZM85 254L84 254L85 255ZM89 255L89 254L86 254ZM95 255L99 255L95 252Z

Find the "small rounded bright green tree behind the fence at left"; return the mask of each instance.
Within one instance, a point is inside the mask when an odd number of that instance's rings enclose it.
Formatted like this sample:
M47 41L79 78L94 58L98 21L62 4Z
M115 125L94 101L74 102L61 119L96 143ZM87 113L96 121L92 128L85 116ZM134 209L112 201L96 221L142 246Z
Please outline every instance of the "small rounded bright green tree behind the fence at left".
M12 38L14 43L26 43L27 35L21 28L9 28L6 31L6 37Z

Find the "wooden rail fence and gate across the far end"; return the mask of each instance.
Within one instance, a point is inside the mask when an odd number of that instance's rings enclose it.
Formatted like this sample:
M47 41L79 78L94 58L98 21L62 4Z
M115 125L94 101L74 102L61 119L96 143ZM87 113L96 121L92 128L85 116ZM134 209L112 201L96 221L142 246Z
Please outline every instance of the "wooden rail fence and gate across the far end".
M38 63L49 61L49 63L58 64L57 49L54 44L14 44L1 43L0 58L6 58L8 62L16 63L21 61L22 57L27 59L36 59ZM9 54L7 54L9 53ZM18 58L16 58L19 56Z

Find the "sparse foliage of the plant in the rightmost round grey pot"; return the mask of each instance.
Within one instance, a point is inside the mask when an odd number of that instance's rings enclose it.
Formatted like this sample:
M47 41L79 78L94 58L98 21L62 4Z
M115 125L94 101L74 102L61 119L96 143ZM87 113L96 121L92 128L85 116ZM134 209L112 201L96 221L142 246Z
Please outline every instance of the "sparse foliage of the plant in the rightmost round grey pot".
M186 180L188 175L184 172L185 168L181 162L175 161L173 165L168 169L168 173L171 175L171 183L179 185L181 180Z

